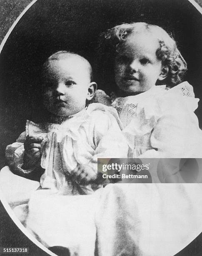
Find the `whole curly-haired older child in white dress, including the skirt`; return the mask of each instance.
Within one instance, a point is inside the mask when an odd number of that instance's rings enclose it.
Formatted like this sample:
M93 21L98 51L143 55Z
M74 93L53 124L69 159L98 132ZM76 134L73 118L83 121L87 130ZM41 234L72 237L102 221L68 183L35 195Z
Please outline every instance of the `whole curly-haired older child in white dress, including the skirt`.
M131 156L200 158L198 99L180 83L187 65L175 41L158 26L122 24L102 33L99 50ZM110 104L104 92L100 99ZM152 182L104 188L95 218L99 255L175 255L201 233L201 184Z

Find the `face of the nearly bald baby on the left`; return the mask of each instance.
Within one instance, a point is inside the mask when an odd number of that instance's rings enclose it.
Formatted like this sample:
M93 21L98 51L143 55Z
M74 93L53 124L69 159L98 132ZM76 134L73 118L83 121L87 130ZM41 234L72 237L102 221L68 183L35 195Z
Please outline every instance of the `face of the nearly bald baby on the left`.
M85 61L72 55L50 60L45 70L43 103L56 116L70 116L85 108L90 83Z

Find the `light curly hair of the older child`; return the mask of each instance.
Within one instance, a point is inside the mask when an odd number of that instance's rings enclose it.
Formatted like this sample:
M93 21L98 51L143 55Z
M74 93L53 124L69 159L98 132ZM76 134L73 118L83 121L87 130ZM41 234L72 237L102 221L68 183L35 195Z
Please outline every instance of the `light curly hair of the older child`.
M162 66L168 67L168 74L164 84L173 87L182 81L187 70L187 63L177 49L175 40L163 28L147 24L145 22L124 23L108 29L100 34L97 48L97 69L101 73L106 90L115 90L114 61L121 44L127 40L132 33L145 31L156 36L159 41L159 48L156 51L157 59L162 61ZM106 82L106 77L108 81ZM111 90L109 87L112 87ZM113 88L114 87L114 88Z

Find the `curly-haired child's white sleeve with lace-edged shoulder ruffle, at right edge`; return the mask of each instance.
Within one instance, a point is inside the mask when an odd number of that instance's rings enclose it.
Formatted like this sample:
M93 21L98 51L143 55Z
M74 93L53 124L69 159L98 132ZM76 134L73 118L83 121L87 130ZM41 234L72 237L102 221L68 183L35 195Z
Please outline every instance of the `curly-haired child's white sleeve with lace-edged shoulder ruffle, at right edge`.
M150 137L153 149L141 157L202 157L202 131L194 113L198 99L194 98L192 86L180 84L165 91L164 95L157 97L156 102L158 118Z

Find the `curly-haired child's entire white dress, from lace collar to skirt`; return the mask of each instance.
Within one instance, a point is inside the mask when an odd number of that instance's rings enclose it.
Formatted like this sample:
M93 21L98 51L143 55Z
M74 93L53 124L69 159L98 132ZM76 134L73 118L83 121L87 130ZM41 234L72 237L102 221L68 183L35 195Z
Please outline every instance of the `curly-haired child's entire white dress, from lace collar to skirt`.
M131 156L200 158L197 102L187 82L170 90L155 86L140 95L117 98L112 105L120 115ZM95 214L98 255L175 255L202 232L201 195L201 183L107 185Z

